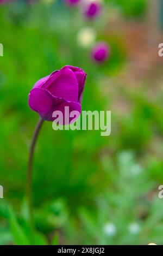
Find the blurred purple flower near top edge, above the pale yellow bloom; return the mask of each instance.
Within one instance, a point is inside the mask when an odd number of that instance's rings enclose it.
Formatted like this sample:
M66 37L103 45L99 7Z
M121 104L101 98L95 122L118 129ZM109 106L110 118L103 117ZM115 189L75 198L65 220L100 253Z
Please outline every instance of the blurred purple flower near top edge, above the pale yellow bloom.
M96 2L86 4L84 15L88 19L93 19L93 18L97 17L99 15L99 13L101 13L101 4L96 3Z

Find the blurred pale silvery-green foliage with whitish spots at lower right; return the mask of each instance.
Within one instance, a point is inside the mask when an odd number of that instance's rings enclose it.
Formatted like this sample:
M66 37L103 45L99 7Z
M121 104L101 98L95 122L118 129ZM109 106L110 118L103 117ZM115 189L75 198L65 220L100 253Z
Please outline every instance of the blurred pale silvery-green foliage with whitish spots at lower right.
M155 183L135 162L131 152L118 156L114 172L108 158L103 158L102 162L112 183L97 199L96 215L80 210L86 235L84 242L92 243L91 237L93 243L101 245L147 245L151 234L157 230L156 227L151 229L152 221L158 223L162 211L161 204L157 205L157 213L153 211L153 205L158 202L156 195L151 201L147 199ZM157 243L161 242L161 235L154 238Z

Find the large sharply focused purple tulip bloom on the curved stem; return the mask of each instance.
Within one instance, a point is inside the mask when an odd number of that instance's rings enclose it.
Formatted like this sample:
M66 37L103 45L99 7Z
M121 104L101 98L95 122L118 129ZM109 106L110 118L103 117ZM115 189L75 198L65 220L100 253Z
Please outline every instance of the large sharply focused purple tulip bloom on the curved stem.
M47 121L55 120L54 111L61 111L65 120L66 106L70 112L76 110L80 114L85 80L86 74L80 68L65 66L56 70L36 82L29 93L29 106Z

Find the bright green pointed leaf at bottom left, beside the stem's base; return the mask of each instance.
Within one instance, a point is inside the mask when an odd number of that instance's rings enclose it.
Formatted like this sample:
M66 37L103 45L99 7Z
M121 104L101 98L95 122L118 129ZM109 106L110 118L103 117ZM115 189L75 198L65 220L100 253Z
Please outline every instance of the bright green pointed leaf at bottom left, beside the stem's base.
M30 245L30 242L28 241L26 234L24 234L24 231L21 228L20 224L18 224L15 213L11 207L9 207L9 222L15 244Z

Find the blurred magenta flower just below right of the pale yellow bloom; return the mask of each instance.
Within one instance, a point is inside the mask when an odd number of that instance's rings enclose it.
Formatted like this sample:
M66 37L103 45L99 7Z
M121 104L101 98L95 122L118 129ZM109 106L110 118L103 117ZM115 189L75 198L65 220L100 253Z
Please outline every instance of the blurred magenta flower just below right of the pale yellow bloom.
M97 62L103 62L109 57L110 47L104 42L97 43L92 49L92 57Z

